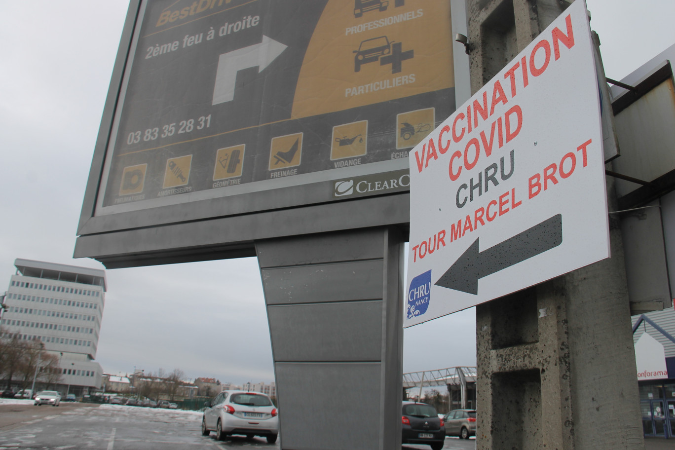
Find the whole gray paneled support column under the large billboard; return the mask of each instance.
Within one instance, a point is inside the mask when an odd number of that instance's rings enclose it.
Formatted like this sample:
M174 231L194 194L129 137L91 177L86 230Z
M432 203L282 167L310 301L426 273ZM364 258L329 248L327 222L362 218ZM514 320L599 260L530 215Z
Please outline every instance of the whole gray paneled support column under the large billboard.
M277 383L280 448L400 447L400 230L261 240L256 252Z

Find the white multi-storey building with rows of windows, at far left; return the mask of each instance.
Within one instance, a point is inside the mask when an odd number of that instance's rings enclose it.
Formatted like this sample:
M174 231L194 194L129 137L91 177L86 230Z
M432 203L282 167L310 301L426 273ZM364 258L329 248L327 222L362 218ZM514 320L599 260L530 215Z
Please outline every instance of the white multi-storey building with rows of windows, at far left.
M59 358L63 394L101 387L94 362L105 306L105 271L17 258L0 321L3 336L38 340ZM61 389L63 388L63 389Z

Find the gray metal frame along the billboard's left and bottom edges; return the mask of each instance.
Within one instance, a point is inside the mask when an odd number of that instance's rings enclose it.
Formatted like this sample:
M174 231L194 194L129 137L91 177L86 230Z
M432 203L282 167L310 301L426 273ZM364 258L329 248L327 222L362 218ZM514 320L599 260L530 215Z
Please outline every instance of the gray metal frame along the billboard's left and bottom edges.
M105 159L112 151L108 145L113 121L121 108L120 95L141 5L142 0L130 1L121 34L84 194L76 258L95 258L108 268L238 258L254 256L256 240L383 225L399 225L407 238L407 189L345 200L326 195L340 180L400 176L408 169L406 158L354 166L353 170L317 177L308 184L97 213Z

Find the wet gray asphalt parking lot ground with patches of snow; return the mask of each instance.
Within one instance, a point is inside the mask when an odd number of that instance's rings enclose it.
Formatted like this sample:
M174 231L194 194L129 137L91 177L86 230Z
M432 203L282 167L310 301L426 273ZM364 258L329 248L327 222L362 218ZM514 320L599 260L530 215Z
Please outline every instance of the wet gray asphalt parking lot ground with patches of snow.
M209 437L202 437L201 418L199 412L122 405L0 404L0 450L279 449L278 441L268 444L259 437L250 441L244 437L217 441L213 432ZM447 438L443 448L473 450L475 440ZM402 447L402 450L416 449L428 450L429 446Z

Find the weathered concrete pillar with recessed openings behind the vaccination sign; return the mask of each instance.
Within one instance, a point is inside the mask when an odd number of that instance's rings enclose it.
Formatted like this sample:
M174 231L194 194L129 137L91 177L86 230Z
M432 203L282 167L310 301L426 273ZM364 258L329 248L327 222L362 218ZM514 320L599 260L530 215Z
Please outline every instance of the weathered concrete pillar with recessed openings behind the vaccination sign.
M476 92L564 9L468 0ZM615 199L607 186L610 210ZM643 449L620 229L612 258L477 306L477 449Z

